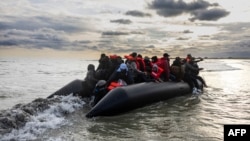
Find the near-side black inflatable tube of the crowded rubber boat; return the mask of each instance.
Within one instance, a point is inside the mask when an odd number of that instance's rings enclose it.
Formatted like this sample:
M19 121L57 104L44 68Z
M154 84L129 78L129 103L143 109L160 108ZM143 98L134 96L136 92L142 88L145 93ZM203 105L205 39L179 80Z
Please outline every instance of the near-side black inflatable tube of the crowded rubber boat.
M201 82L199 82L202 88ZM187 83L139 83L118 87L107 93L86 117L112 116L191 92Z

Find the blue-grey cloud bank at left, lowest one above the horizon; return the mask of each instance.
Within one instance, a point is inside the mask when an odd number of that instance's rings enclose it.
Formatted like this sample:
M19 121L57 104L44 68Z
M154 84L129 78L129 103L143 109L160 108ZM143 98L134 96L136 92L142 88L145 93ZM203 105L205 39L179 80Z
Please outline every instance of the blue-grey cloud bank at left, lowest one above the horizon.
M0 33L0 47L52 48L56 50L84 50L92 42L89 40L70 41L62 31L39 29L24 31L9 29Z

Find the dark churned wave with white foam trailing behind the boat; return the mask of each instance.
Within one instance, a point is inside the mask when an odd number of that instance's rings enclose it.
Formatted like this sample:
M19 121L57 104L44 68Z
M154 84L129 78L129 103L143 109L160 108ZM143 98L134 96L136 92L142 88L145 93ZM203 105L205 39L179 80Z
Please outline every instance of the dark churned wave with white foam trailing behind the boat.
M82 108L84 104L82 99L73 94L18 104L1 112L0 140L35 140L46 130L67 124L65 116Z

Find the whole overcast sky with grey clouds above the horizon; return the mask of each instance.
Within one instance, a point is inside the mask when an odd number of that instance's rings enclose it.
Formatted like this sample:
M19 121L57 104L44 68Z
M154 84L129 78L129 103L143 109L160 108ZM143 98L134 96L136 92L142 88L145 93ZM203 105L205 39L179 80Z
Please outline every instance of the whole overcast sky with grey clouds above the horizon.
M249 0L5 0L0 55L247 57L249 17Z

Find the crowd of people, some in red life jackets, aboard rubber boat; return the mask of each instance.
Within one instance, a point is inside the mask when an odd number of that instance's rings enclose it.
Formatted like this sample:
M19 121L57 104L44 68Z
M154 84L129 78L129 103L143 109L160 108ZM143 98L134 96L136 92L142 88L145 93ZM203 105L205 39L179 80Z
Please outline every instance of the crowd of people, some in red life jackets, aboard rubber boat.
M203 78L199 76L202 68L199 68L197 64L203 59L196 59L191 54L187 54L184 59L176 57L170 64L169 56L168 53L164 53L162 57L149 58L132 52L125 55L123 59L117 55L101 54L98 67L95 69L93 64L89 64L85 77L85 87L89 90L89 95L93 96L93 105L104 96L102 94L100 97L101 90L102 93L107 93L108 90L116 87L113 82L119 85L130 85L140 82L184 81L192 88L193 94L201 92L197 79L202 82L203 86L207 86Z

